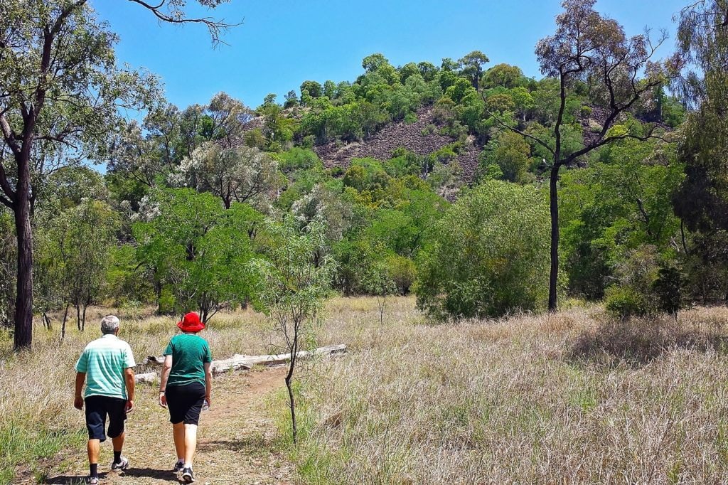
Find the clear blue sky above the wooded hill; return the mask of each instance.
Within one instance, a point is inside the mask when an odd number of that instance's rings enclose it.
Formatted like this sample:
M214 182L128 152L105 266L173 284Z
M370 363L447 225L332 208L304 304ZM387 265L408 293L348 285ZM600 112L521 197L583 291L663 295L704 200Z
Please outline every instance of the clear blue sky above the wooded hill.
M194 0L189 0L194 3ZM515 64L539 76L534 55L538 39L553 33L559 0L370 0L242 1L197 15L244 23L213 49L202 25L160 25L137 4L92 2L99 17L121 37L119 63L159 74L167 99L180 107L205 103L225 91L255 108L269 92L282 102L288 90L313 79L354 81L361 60L383 53L399 66L409 61L457 59L472 50L496 63ZM645 26L668 28L686 0L599 0L597 9L628 34ZM670 39L662 55L672 49ZM488 67L486 66L486 67Z

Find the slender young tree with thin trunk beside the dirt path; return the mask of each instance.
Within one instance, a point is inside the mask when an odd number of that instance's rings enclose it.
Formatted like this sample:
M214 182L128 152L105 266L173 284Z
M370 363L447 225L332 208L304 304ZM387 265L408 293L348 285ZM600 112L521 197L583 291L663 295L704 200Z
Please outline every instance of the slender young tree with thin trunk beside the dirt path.
M268 259L253 260L258 273L256 307L272 319L282 336L286 353L290 353L285 385L288 388L293 443L296 443L296 398L293 395L293 372L298 352L312 330L331 285L333 260L321 256L326 246L326 226L314 221L304 232L291 218L282 223L269 222Z

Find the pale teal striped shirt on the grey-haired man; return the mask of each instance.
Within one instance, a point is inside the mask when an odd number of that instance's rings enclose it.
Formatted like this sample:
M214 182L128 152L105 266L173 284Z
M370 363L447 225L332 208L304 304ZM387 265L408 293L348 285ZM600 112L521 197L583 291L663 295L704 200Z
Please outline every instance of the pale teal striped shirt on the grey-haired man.
M131 347L116 335L106 334L90 342L76 363L76 372L86 373L84 398L106 395L126 399L124 369L134 366Z

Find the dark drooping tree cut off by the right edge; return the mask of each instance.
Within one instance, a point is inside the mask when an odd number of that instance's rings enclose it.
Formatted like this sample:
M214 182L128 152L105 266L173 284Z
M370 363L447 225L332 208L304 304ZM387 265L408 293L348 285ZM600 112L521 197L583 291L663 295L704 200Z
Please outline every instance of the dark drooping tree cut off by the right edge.
M693 232L685 250L697 293L728 301L728 1L692 1L678 22L685 63L676 84L691 110L678 143L685 179L673 206Z

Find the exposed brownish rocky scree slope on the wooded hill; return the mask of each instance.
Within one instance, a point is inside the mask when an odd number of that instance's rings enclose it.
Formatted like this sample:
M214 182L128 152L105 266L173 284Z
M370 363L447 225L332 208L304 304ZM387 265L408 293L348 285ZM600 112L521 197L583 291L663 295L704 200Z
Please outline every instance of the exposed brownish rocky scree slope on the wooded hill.
M417 113L417 121L412 124L408 125L405 122L391 123L365 141L344 145L332 142L316 146L314 151L323 160L326 167L347 168L353 158L372 157L387 160L400 147L404 147L418 155L427 155L455 141L454 138L440 135L437 131L432 134L423 134L428 125L434 125L432 110L421 109ZM465 182L473 180L475 169L478 167L479 155L480 148L468 146L457 157L456 161L462 168Z

